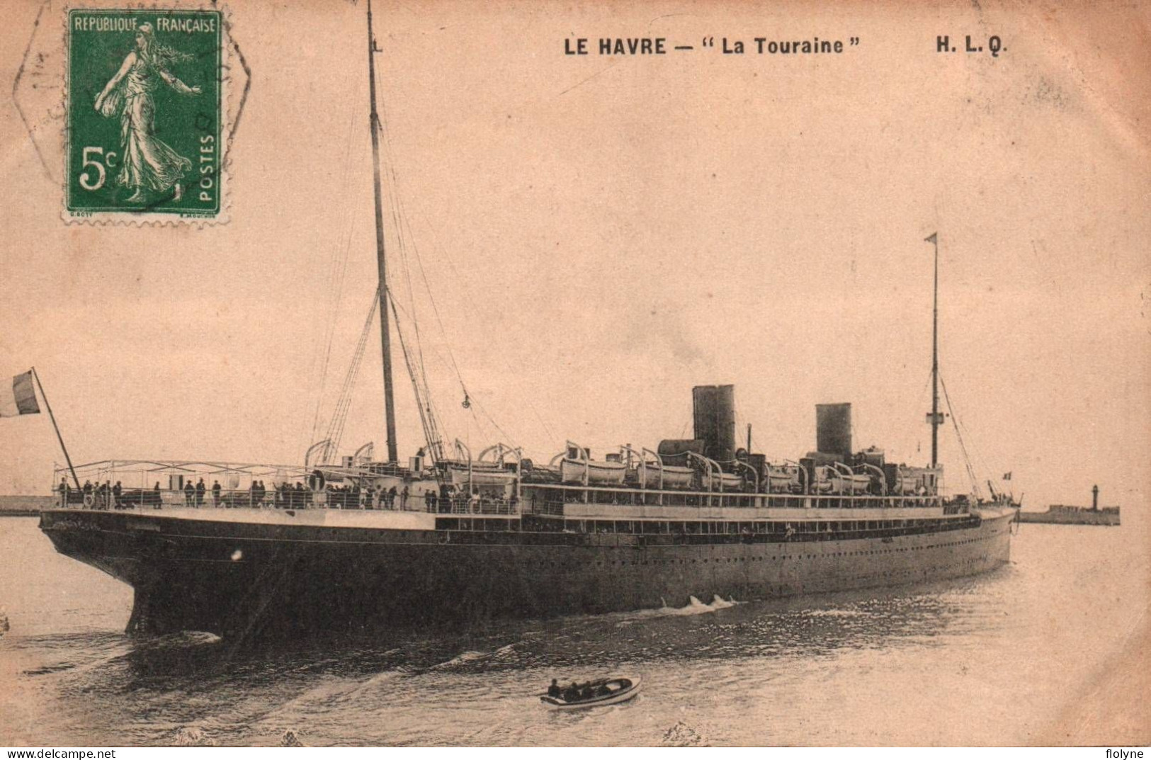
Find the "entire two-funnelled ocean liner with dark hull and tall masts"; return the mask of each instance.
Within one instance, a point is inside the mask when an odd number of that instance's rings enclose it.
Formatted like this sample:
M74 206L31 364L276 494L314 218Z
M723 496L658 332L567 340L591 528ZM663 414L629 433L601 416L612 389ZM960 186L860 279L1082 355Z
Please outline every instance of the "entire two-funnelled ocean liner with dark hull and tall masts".
M851 404L818 405L815 449L770 461L750 435L737 441L732 386L695 387L694 435L654 449L595 458L567 441L543 463L495 443L473 456L425 420L426 446L401 462L371 13L369 3L387 459L361 449L333 461L329 438L292 465L109 459L59 470L60 503L40 529L62 554L132 586L130 632L327 636L817 594L1008 561L1012 500L944 495L937 330L925 466L855 450ZM938 243L928 240L938 292Z

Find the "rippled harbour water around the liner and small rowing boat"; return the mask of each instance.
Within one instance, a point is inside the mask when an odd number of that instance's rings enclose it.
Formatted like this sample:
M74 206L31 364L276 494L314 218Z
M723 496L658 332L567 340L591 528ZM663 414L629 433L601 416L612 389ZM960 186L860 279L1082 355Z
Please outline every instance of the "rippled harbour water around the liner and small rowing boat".
M1068 716L1108 698L1151 598L1123 519L1022 525L1011 564L946 583L237 651L125 636L129 587L2 518L0 745L1099 743ZM538 698L611 674L640 696Z

